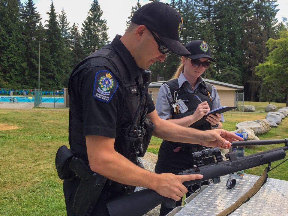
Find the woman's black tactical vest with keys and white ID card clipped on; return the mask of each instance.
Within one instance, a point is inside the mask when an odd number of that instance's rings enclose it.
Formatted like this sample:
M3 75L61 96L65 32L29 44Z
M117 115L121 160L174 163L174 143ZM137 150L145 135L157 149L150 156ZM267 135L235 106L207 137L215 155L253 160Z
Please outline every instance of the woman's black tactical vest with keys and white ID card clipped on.
M197 100L197 98L194 95L197 95L201 99L201 101L207 101L207 103L208 103L208 105L210 107L210 110L212 110L212 102L210 101L210 98L208 96L208 91L209 91L210 94L211 94L211 91L212 91L212 85L210 83L207 83L207 82L199 83L200 89L199 89L198 92L196 92L196 94L191 94L189 92L186 92L184 90L184 85L182 85L181 88L179 88L178 78L169 80L166 83L169 86L169 89L170 89L170 92L171 92L171 95L172 95L172 103L174 101L174 91L177 91L178 92L177 100L182 99L184 104L188 107L188 110L185 113L181 113L181 112L180 113L175 113L174 109L171 108L171 119L181 119L183 117L192 115L195 112L195 110L196 110L196 108L197 108L197 106L198 106L198 104L200 102ZM192 127L191 125L189 127L190 128L195 128L195 129L198 129L198 130L202 130L202 131L206 131L206 130L210 130L211 129L209 122L207 122L207 123L205 123L205 124L203 124L201 126L198 126L198 127ZM197 144L191 145L189 143L170 142L170 141L167 141L167 140L163 140L163 141L164 141L164 143L167 143L167 144L170 144L170 145L174 144L175 148L177 146L193 146L193 147L200 146L200 145L197 145Z

